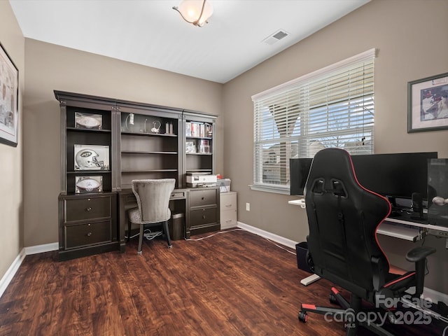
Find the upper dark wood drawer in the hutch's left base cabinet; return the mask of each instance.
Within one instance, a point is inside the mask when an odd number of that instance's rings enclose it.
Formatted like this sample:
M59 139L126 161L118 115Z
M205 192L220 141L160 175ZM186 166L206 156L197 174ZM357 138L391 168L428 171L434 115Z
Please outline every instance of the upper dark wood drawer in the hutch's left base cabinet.
M111 217L111 197L65 200L65 221Z

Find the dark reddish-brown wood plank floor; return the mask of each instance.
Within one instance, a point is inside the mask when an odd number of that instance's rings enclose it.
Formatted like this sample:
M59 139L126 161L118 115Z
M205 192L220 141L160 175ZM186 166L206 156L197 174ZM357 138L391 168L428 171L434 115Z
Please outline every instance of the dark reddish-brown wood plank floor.
M295 255L266 239L230 231L173 246L154 240L137 255L134 240L126 253L64 262L28 255L0 298L0 335L344 335L321 315L297 321L301 302L329 305L332 284L300 285L309 274ZM431 332L399 333L442 335Z

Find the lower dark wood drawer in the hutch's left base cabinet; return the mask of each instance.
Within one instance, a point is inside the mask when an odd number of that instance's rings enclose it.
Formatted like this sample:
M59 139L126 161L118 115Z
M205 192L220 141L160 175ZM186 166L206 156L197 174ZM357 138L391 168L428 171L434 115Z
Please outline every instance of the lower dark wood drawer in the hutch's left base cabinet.
M111 241L111 221L65 225L65 249Z

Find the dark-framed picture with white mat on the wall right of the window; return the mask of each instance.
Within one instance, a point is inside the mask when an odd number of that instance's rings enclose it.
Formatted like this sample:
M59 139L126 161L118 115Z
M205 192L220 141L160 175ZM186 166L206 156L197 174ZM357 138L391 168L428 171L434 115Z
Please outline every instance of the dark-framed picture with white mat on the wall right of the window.
M448 130L448 73L407 83L407 132Z

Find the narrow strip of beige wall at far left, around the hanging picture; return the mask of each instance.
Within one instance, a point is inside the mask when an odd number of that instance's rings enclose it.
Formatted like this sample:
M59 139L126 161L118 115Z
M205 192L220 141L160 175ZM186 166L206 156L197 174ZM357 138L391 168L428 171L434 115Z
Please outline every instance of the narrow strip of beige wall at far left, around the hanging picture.
M23 247L22 102L25 83L25 39L8 1L0 1L0 43L19 69L18 146L0 144L0 279Z

